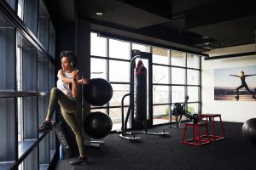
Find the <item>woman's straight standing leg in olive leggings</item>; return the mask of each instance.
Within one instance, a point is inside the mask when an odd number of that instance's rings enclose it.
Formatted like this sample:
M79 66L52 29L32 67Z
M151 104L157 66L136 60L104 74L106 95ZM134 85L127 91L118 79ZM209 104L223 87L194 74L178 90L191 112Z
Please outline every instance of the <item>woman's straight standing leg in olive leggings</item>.
M67 124L72 128L73 133L75 133L77 143L79 145L79 154L81 157L86 157L84 152L84 139L82 132L78 126L75 115L73 113L68 113L61 107L61 113L66 120Z

